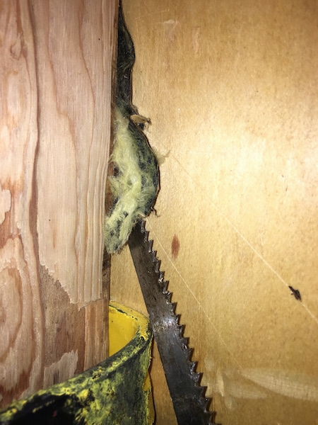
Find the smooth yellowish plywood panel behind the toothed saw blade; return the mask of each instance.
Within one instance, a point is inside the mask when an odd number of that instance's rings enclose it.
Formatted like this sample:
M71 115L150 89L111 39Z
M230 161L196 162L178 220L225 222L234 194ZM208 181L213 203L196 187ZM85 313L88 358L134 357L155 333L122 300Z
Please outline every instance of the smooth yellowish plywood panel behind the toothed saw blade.
M148 229L216 421L318 424L318 3L123 5L165 155ZM110 295L146 311L128 249ZM156 351L152 379L175 424Z

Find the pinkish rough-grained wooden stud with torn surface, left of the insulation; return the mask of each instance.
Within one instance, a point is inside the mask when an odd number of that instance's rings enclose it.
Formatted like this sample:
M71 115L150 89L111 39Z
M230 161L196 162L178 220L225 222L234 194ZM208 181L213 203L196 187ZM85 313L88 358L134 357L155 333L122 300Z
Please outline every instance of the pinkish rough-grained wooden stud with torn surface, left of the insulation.
M0 4L0 405L107 356L116 0Z

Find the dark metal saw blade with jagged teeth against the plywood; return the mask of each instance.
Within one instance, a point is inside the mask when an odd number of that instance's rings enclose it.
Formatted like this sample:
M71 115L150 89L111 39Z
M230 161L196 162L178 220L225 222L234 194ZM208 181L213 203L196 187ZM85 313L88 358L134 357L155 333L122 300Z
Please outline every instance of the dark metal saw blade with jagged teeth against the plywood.
M160 271L160 261L148 241L145 222L139 220L129 237L129 248L139 278L153 334L157 342L165 378L179 425L213 425L208 412L210 399L206 387L201 387L201 373L191 361L192 349L183 336L184 327L175 314L175 303L170 302L171 293Z

